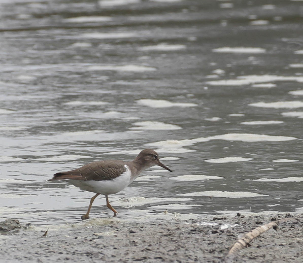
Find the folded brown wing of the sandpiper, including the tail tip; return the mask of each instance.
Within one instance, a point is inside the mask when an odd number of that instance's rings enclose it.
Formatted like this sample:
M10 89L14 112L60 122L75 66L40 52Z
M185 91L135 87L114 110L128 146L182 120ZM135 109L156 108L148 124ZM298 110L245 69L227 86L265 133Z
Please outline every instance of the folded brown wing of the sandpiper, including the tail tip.
M126 172L126 170L124 161L105 160L88 163L75 170L55 173L54 177L48 181L66 179L94 181L111 180L120 176L122 173Z

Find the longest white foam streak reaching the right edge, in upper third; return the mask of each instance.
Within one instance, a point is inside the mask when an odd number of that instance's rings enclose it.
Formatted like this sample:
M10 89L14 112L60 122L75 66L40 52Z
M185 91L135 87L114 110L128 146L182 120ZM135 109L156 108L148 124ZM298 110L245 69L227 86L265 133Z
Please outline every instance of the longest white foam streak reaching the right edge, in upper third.
M206 84L213 86L241 86L255 83L264 83L272 81L297 81L303 82L302 76L278 76L278 75L247 75L238 76L236 79L207 81Z

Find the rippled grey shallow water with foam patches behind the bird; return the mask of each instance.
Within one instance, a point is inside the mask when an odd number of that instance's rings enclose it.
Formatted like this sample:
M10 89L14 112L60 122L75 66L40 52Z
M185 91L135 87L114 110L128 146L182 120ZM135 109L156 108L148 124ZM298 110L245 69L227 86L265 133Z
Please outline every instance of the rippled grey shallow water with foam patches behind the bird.
M77 222L92 194L47 179L146 147L174 173L110 196L118 217L300 211L302 10L1 0L0 219Z

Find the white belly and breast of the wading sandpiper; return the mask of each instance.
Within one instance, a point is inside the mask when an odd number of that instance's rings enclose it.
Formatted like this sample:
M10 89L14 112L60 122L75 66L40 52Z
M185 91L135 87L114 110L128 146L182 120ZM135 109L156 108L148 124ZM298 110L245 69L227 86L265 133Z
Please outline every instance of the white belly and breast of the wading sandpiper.
M132 182L131 171L127 165L125 165L125 168L127 169L126 172L111 180L85 181L70 179L68 182L84 191L100 193L102 195L111 195L120 192Z

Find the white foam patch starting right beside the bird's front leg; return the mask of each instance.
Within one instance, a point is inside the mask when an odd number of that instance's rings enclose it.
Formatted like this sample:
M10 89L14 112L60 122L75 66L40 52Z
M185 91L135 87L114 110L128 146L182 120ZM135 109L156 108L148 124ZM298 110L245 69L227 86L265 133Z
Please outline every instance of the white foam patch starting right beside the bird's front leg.
M120 205L125 208L130 208L133 206L141 206L152 203L160 203L160 202L185 202L191 201L191 198L159 198L159 197L149 197L145 198L142 196L136 197L124 197L117 201L112 201L115 205Z

